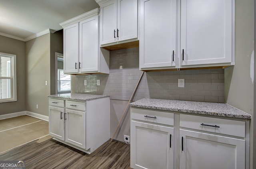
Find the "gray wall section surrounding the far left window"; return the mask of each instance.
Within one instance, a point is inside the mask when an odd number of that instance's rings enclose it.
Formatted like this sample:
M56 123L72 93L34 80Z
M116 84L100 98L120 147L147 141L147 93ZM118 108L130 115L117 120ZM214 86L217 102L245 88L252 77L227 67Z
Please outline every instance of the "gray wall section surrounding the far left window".
M17 101L0 103L0 115L26 110L25 42L0 35L0 52L16 55Z

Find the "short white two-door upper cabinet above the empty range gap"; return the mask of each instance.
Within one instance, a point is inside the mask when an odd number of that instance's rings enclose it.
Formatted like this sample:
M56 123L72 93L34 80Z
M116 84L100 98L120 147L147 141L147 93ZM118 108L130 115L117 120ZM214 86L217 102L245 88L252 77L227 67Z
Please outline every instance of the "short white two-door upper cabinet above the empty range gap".
M100 45L138 38L137 0L96 0L100 5Z

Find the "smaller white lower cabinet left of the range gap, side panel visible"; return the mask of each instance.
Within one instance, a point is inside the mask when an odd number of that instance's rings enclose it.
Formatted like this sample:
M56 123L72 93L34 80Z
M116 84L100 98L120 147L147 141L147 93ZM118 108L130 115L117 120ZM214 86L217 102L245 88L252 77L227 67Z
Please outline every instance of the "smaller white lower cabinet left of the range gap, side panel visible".
M110 138L109 97L86 102L49 98L49 135L92 153Z

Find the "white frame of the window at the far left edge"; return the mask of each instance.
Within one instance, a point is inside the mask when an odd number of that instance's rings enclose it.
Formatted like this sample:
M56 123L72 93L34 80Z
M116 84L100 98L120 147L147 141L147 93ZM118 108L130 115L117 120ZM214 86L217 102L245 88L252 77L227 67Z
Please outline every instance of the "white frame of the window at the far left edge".
M9 57L10 58L10 66L11 66L10 77L2 77L0 74L0 81L1 81L1 79L10 79L11 98L0 98L0 103L16 102L17 101L16 55L0 52L0 56L1 57ZM0 69L1 69L1 65L0 65Z

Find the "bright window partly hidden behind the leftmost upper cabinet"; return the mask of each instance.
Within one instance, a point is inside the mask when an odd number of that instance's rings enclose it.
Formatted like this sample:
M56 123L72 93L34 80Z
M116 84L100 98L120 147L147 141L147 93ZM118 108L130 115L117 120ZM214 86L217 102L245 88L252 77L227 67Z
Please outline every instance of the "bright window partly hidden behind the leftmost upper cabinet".
M58 93L71 90L71 77L65 75L63 69L58 69Z

